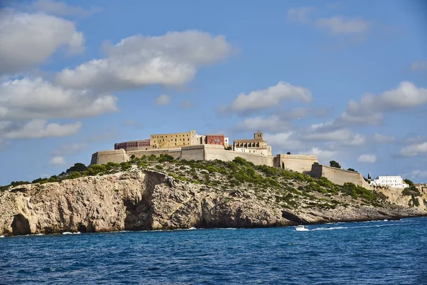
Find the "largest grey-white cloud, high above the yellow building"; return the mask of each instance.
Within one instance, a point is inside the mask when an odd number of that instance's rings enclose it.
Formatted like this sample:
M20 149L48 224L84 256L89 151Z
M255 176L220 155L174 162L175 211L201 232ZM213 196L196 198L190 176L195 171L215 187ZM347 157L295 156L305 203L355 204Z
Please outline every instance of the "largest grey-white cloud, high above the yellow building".
M224 36L201 31L169 32L164 36L130 36L106 48L107 58L64 69L58 81L69 88L127 90L152 84L180 86L201 66L231 53Z

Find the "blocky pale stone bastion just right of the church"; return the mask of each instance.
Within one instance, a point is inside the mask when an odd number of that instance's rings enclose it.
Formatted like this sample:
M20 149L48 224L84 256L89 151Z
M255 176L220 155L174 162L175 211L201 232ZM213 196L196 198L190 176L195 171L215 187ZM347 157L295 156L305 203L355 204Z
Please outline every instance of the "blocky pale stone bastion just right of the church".
M300 173L310 173L312 164L319 163L315 155L276 155L274 157L274 166L285 170L292 170Z

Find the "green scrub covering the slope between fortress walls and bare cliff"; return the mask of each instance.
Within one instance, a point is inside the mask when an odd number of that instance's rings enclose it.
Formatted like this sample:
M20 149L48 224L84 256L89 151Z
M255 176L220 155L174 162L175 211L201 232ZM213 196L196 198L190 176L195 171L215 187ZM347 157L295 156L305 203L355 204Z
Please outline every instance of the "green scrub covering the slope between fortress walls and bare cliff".
M316 179L278 167L253 165L252 162L241 157L236 157L231 162L224 162L222 160L175 160L171 155L163 154L159 156L144 155L141 158L132 155L130 162L108 162L106 165L90 165L89 167L76 163L60 175L38 178L32 183L61 182L78 177L108 175L134 169L164 172L176 180L205 185L206 190L211 187L212 191L240 190L248 192L259 199L268 200L285 208L333 209L338 206L347 207L348 203L337 201L338 197L343 197L346 201L354 200L361 204L379 206L385 199L381 193L367 190L353 183L335 185L325 177ZM6 190L11 186L28 183L30 182L12 182L11 185L1 187L1 189Z

